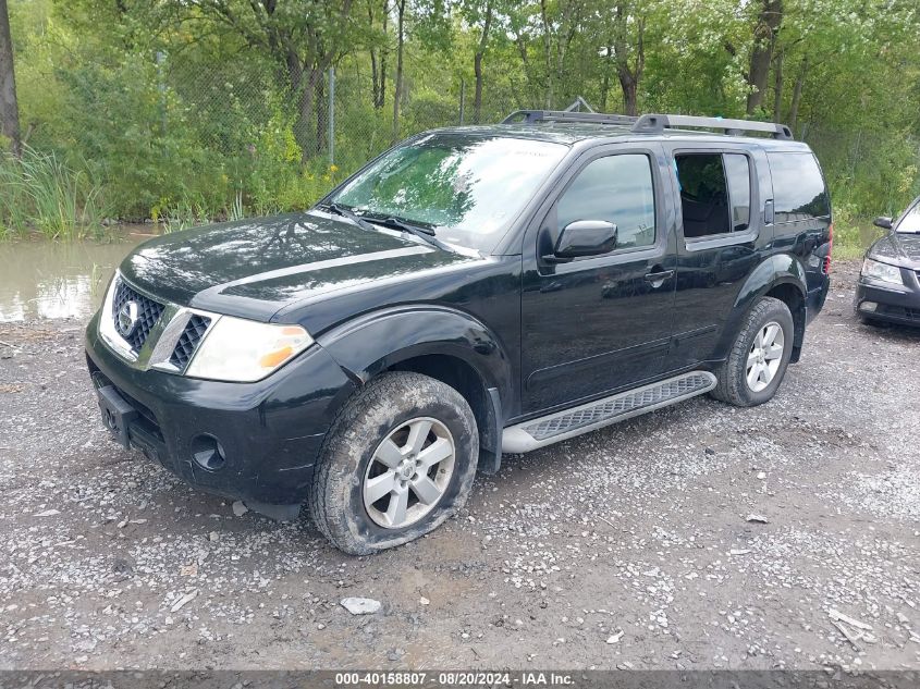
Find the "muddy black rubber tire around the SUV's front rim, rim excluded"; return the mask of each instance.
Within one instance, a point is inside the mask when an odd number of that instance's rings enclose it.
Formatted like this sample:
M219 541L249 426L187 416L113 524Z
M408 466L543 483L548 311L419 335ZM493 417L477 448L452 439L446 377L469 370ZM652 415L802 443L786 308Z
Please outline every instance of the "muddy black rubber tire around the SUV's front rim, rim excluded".
M450 431L455 446L453 473L428 514L402 528L384 528L365 507L368 465L394 429L420 417L436 419ZM436 529L464 505L478 456L476 418L456 390L420 373L383 373L357 392L333 421L307 507L317 528L345 553L367 555L401 545Z

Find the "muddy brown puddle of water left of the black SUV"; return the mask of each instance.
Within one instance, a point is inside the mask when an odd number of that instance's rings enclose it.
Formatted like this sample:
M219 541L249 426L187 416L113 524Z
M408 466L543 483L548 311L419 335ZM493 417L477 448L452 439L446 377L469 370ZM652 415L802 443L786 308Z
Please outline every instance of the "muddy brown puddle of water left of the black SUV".
M0 321L91 316L115 268L147 238L135 229L108 244L0 242Z

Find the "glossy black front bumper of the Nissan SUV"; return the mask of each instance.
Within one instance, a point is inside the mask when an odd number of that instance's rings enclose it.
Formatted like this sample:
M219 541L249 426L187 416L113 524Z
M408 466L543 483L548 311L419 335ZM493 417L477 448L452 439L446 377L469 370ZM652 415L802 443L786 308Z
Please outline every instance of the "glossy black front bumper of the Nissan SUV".
M137 411L131 446L203 490L269 505L304 502L323 436L354 390L319 345L255 383L138 370L99 339L98 313L86 358L97 389L111 385ZM209 442L219 443L222 462L196 459Z

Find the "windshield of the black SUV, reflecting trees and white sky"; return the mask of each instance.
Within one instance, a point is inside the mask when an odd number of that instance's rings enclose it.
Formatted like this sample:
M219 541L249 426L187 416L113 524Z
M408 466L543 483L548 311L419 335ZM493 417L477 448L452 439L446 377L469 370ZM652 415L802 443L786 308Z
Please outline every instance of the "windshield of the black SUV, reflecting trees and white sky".
M391 150L330 200L490 251L567 150L524 138L430 134Z

